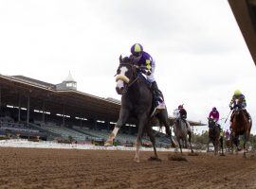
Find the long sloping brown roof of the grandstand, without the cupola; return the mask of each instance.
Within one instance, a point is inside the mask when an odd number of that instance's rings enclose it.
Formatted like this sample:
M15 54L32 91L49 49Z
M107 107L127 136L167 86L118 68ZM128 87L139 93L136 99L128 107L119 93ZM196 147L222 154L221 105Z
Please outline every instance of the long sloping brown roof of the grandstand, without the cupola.
M63 113L70 116L82 116L108 121L119 118L120 102L114 98L102 98L75 90L58 91L56 86L37 79L23 76L0 75L2 102L18 106L18 96L22 97L22 107L27 107L27 96L30 107L42 110L45 101L46 111ZM173 117L169 117L173 120ZM199 122L190 121L193 126L202 126Z

